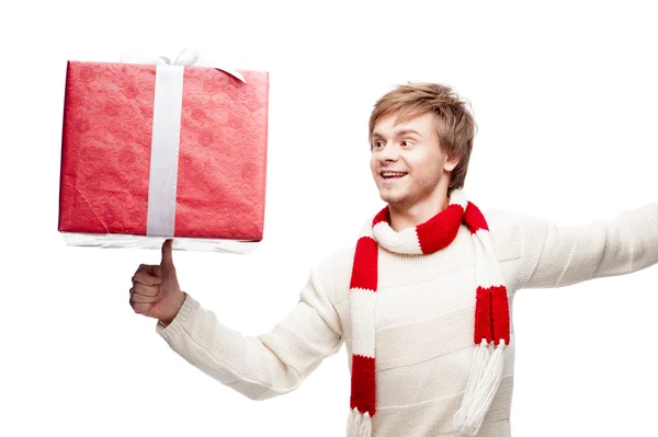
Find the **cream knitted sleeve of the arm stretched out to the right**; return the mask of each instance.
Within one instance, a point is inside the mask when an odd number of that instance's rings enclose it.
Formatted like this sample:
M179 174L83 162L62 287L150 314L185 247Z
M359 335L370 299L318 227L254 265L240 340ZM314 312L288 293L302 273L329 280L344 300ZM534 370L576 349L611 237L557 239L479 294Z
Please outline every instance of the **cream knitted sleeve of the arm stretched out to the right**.
M658 263L658 203L589 225L558 227L531 217L519 223L521 288L563 287Z

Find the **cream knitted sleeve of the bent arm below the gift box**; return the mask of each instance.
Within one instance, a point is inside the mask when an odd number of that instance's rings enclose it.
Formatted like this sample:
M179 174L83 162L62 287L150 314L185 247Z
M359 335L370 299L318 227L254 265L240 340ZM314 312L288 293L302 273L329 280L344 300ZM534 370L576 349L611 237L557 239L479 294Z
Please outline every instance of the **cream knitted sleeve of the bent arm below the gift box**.
M252 400L295 390L343 343L340 318L315 269L296 306L265 334L230 330L189 295L172 322L156 331L191 365Z

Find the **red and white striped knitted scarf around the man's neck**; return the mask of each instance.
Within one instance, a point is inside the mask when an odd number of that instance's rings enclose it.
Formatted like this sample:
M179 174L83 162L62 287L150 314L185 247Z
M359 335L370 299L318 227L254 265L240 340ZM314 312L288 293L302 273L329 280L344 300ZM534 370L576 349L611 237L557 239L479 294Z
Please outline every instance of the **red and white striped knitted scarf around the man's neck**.
M384 249L422 255L453 242L462 225L470 230L476 251L476 299L474 357L461 409L454 416L455 430L476 435L500 384L504 346L510 343L507 288L491 244L489 228L480 210L455 189L449 206L415 228L396 232L388 207L367 222L356 243L350 280L352 318L352 393L349 437L370 437L375 415L375 303L377 251Z

